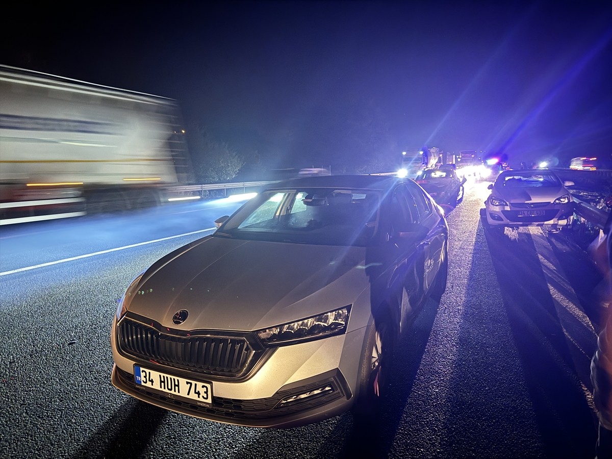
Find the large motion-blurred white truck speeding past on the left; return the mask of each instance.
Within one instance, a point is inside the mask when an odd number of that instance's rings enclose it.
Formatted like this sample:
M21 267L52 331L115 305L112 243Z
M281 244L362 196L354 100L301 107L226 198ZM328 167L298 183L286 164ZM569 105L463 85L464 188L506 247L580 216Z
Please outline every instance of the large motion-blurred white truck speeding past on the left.
M141 209L192 168L174 100L0 65L0 225Z

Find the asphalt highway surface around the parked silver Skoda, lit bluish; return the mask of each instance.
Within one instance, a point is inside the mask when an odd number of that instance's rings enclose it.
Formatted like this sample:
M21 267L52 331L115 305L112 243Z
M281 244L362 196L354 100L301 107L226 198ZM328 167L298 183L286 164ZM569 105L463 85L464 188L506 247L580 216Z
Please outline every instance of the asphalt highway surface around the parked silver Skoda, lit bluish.
M449 212L447 290L401 341L381 416L288 430L167 412L110 383L130 280L240 203L2 227L0 457L594 457L602 274L567 232L489 234L487 195L468 184Z

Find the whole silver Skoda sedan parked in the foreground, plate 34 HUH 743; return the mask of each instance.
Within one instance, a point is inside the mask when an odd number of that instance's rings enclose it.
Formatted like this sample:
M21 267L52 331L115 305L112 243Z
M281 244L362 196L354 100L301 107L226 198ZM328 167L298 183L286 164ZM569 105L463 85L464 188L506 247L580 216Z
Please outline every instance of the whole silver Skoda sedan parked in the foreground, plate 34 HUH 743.
M217 224L127 288L113 385L252 427L375 413L400 334L446 288L441 207L411 179L304 177Z

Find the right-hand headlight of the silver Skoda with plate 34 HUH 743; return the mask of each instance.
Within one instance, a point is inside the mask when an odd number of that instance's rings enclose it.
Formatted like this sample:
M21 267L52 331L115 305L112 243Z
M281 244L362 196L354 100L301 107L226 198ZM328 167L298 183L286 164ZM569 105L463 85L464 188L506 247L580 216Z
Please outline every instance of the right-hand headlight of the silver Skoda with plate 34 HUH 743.
M350 306L301 319L277 327L259 330L257 336L264 345L294 344L346 332Z

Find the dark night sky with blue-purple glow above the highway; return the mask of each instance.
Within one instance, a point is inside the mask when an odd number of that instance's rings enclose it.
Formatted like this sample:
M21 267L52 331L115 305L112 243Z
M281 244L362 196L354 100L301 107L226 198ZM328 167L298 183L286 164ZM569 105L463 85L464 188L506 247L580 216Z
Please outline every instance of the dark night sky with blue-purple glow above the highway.
M271 166L612 154L611 2L75 5L3 7L0 63L177 99Z

